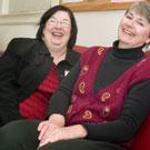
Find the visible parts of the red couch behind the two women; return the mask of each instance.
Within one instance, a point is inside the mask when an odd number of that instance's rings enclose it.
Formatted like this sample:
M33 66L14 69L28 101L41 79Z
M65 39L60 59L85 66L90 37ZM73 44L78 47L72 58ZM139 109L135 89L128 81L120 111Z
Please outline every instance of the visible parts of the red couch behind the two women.
M76 46L76 51L82 53L87 50L87 47ZM150 51L147 52L150 54ZM150 116L146 119L143 126L138 131L133 139L131 150L150 150Z

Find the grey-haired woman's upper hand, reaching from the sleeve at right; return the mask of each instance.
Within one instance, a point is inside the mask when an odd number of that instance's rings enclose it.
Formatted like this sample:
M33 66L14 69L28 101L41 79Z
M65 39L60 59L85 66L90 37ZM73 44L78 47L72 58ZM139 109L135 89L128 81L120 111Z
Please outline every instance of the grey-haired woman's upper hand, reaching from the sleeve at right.
M81 124L48 129L40 140L39 147L42 147L49 142L56 142L60 140L69 140L77 138L84 138L87 130Z

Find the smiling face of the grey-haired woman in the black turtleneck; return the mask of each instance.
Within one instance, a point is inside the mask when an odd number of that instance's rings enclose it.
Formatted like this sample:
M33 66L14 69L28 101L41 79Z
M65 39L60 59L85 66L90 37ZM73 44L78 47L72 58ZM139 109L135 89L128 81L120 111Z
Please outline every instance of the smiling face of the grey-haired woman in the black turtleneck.
M136 48L150 42L150 23L136 10L129 10L119 24L119 48Z

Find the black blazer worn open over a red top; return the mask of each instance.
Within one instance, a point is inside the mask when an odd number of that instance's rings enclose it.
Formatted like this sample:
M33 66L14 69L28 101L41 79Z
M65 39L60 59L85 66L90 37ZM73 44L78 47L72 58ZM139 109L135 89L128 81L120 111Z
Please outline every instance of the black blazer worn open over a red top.
M60 76L74 66L79 56L68 50ZM43 41L29 38L11 40L0 58L0 126L22 119L19 103L43 81L51 66L52 58Z

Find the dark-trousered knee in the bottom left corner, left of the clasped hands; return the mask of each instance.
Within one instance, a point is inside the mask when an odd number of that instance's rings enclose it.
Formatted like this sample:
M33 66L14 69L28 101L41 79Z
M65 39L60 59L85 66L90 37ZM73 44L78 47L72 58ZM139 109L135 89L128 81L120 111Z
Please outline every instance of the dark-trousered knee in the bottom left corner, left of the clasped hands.
M39 121L19 120L0 128L0 149L7 150L13 147L24 147L32 143L38 146L37 127Z

